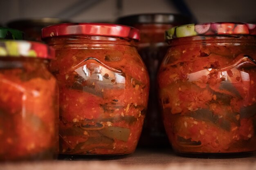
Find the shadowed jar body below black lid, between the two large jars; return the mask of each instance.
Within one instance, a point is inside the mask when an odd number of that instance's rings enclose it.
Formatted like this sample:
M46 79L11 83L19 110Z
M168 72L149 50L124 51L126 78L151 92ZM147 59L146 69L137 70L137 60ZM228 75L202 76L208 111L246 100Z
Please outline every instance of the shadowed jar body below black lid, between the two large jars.
M150 91L148 111L140 139L141 146L168 146L168 139L162 123L157 101L157 70L168 50L164 40L164 31L171 28L171 24L136 24L140 30L141 39L137 43L138 52L148 68L150 76ZM150 141L150 142L149 142Z

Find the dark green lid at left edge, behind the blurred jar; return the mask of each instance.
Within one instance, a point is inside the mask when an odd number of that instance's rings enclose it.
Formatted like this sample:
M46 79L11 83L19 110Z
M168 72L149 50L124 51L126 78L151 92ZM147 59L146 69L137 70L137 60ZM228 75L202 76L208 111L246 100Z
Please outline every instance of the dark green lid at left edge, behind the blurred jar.
M12 28L0 27L0 39L24 39L24 33Z

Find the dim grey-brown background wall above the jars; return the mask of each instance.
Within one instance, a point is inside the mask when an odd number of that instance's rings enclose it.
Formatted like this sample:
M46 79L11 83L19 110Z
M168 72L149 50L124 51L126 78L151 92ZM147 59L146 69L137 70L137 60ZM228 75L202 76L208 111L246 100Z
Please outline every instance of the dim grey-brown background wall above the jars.
M0 0L0 23L26 17L63 17L74 22L113 22L134 13L188 12L198 22L256 22L256 0Z

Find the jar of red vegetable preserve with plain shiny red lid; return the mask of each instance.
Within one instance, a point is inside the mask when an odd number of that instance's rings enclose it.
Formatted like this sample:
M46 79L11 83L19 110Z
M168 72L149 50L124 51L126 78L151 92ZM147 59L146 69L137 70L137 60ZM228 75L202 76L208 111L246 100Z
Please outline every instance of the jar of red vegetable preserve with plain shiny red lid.
M60 154L134 152L149 90L135 48L139 31L97 23L58 24L42 31L56 50L50 70L60 87Z

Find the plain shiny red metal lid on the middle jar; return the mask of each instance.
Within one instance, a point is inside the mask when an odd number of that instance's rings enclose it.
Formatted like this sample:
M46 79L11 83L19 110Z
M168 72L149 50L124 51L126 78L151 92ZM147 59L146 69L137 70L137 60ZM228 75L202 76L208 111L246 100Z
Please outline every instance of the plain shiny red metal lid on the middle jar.
M139 40L139 30L130 26L101 23L67 23L42 29L42 38L65 35L98 35Z

